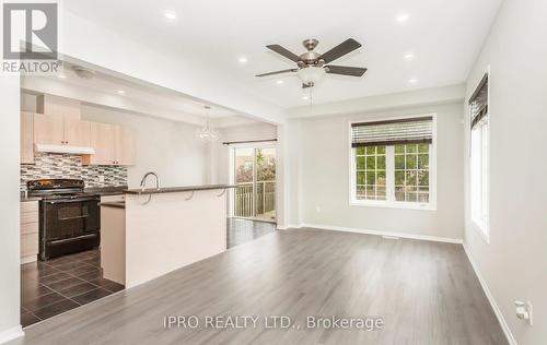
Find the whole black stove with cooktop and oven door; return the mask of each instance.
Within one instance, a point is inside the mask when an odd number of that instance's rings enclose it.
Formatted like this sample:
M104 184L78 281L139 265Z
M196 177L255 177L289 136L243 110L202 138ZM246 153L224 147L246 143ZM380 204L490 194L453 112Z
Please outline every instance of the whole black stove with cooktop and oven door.
M101 197L85 193L81 179L40 179L26 183L30 197L39 197L38 259L98 248Z

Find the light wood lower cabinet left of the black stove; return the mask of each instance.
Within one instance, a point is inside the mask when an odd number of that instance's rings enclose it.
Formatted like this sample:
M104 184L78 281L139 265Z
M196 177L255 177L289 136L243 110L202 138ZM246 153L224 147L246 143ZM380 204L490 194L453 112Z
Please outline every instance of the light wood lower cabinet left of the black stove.
M34 262L38 255L38 202L21 203L21 263Z

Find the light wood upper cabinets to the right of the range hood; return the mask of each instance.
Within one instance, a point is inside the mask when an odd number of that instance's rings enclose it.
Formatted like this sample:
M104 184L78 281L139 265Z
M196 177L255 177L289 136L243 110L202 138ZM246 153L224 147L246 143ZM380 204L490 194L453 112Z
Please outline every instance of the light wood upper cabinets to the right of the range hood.
M85 165L133 165L133 131L117 124L91 123L91 146L95 154L82 157Z

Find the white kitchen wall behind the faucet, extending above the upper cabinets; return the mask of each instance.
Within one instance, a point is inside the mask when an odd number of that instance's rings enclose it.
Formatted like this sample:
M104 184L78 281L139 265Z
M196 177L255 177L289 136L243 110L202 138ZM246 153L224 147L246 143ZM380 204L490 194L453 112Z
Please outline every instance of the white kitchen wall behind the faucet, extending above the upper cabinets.
M137 162L127 170L130 188L138 188L148 171L156 172L164 187L206 182L207 146L196 138L197 127L88 105L82 106L82 119L135 130Z

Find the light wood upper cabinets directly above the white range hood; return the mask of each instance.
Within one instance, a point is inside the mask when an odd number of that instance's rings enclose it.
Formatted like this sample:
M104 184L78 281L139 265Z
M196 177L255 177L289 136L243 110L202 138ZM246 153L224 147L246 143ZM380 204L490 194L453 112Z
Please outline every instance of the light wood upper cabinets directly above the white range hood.
M72 116L34 115L34 143L50 145L91 146L91 123Z

